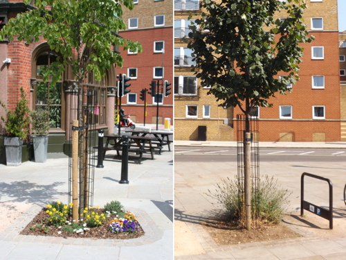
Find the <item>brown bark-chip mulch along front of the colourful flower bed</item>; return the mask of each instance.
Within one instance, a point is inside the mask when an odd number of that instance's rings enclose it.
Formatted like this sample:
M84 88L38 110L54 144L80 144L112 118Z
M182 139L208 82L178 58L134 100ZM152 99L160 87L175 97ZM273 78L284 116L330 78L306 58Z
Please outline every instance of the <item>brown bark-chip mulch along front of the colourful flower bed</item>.
M99 209L102 213L102 209ZM118 233L115 234L109 231L108 223L112 220L112 217L108 217L103 225L100 227L92 227L88 231L83 233L67 232L63 231L62 228L48 225L49 221L46 214L46 209L39 211L39 214L35 216L33 220L21 231L22 235L33 235L33 236L61 236L64 238L88 238L88 239L136 239L144 235L142 227L138 223L138 231L134 234ZM61 232L61 234L59 234Z

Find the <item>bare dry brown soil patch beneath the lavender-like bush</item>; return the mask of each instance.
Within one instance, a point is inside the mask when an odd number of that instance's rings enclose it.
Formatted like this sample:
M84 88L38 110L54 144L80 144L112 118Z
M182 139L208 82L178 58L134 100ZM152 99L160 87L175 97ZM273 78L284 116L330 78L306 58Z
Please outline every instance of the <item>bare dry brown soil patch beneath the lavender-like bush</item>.
M227 223L220 220L210 220L208 223L201 223L201 225L218 245L234 245L300 237L300 234L293 232L282 224L262 224L259 227L252 227L250 231L239 227L236 223Z

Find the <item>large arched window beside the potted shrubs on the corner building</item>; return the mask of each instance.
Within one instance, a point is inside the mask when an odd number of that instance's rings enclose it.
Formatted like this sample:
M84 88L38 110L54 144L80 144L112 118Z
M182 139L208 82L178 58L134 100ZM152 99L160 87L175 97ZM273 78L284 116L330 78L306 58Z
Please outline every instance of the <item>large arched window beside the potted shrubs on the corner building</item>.
M48 109L50 112L49 121L51 129L62 129L63 106L62 106L62 81L54 86L51 84L51 78L46 83L43 82L44 73L51 64L57 60L57 54L52 51L41 51L34 57L33 76L36 78L36 84L33 92L33 109Z

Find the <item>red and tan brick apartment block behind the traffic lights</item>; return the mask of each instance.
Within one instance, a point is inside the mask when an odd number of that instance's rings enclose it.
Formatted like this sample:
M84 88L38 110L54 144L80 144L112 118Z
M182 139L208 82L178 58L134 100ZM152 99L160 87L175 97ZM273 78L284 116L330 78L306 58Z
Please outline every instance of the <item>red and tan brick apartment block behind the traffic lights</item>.
M140 91L149 89L154 80L160 84L158 124L163 124L165 118L171 119L173 124L173 94L163 97L161 86L165 80L169 83L173 80L173 1L134 0L134 3L133 10L123 12L127 29L119 34L125 39L140 42L143 52L120 50L125 62L117 73L131 78L131 92L122 97L122 108L136 123L144 123L145 103L140 99ZM156 123L156 98L147 94L146 103L145 123Z

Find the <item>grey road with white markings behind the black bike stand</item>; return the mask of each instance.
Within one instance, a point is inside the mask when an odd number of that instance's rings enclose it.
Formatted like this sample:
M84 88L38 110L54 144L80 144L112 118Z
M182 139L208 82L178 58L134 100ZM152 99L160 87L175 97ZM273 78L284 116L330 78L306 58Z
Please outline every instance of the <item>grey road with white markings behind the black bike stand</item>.
M260 148L260 162L346 162L343 148ZM175 162L237 162L236 147L175 146Z

